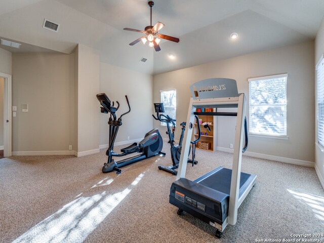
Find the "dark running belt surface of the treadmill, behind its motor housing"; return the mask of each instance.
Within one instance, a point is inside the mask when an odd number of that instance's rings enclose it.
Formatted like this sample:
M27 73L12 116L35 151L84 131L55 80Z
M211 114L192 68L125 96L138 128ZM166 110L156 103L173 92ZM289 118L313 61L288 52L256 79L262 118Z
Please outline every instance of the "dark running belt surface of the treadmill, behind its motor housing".
M217 168L219 169L219 168ZM215 169L215 171L217 170ZM209 173L210 174L210 173ZM249 179L251 175L241 172L240 176L240 182L239 182L239 189L244 185L244 183ZM231 187L231 177L232 177L232 170L222 168L221 170L218 170L216 173L212 173L206 178L198 178L194 182L197 182L201 185L208 186L210 188L213 188L214 190L223 192L227 195L230 193L230 187ZM203 180L201 180L203 179Z

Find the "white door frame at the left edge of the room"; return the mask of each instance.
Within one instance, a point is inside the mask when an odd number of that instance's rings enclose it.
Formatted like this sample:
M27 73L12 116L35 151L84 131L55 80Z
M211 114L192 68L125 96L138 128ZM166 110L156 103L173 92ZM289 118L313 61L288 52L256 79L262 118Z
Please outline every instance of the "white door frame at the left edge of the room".
M12 156L12 75L0 72L4 77L4 157Z

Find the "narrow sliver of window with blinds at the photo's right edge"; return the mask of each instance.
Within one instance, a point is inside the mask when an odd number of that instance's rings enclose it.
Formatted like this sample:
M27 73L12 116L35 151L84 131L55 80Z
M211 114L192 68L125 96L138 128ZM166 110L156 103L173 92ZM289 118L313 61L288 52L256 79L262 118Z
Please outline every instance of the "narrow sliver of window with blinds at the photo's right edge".
M317 138L318 143L324 146L324 58L319 59L316 65L317 87Z

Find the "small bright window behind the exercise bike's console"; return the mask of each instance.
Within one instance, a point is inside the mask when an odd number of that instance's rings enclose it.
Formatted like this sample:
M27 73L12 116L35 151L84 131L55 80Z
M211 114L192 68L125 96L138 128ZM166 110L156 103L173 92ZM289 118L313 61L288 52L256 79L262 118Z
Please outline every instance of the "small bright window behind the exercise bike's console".
M164 104L165 115L176 119L177 111L177 91L176 90L161 90L161 103ZM167 126L166 123L161 123L161 126Z

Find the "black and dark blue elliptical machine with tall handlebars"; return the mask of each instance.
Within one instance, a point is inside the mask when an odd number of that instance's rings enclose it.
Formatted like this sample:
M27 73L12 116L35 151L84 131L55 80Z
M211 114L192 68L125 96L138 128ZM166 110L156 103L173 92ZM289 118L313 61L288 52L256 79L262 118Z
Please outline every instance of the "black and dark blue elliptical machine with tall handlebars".
M140 161L145 158L149 158L156 155L162 155L165 156L166 154L161 152L163 147L163 140L158 132L157 129L153 129L145 134L145 137L142 141L140 141L138 144L133 143L132 145L120 149L121 153L115 153L113 152L113 145L115 142L115 139L117 137L118 129L122 125L121 117L123 115L126 115L131 111L131 106L128 101L127 95L126 101L129 107L129 110L125 112L124 114L121 114L119 118L117 119L116 111L119 108L119 102L116 101L117 107L114 107L114 102L110 102L109 98L105 93L97 94L97 99L99 100L101 104L101 113L110 113L108 125L109 125L109 147L106 151L106 155L108 156L107 163L104 164L102 168L103 173L116 171L117 174L121 173L121 170L119 168L136 163L137 161ZM124 156L127 154L139 152L141 154L136 155L131 158L126 158L123 160L115 161L112 157L116 156Z

